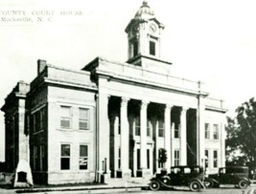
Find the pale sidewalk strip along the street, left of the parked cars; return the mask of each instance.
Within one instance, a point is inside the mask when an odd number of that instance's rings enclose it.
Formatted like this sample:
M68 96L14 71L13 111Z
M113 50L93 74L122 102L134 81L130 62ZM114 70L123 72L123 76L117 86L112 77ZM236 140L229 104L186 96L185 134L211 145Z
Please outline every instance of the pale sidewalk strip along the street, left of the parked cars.
M93 191L104 190L105 193L116 193L125 191L139 191L142 187L147 187L148 182L143 179L129 179L124 181L122 179L111 179L109 183L105 184L92 184L92 185L70 185L70 186L35 186L33 188L13 188L13 189L2 189L0 188L0 193L35 193L35 192L50 192L50 191Z

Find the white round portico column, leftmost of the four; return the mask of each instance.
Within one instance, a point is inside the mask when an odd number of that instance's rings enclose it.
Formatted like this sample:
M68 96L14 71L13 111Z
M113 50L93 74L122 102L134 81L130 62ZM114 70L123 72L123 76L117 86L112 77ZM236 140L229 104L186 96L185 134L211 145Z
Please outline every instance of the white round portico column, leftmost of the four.
M122 177L130 177L130 170L128 169L128 98L121 99L121 169Z

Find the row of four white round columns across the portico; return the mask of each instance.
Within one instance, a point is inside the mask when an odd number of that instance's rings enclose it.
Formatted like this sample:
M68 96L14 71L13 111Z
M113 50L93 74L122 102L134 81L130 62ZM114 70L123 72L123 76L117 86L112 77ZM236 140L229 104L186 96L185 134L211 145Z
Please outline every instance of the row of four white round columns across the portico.
M142 100L140 107L140 162L141 170L147 169L147 108L149 101ZM167 162L166 168L170 169L171 159L172 159L172 149L171 149L171 105L167 104L165 108L165 149L167 150ZM187 108L182 108L180 115L181 130L180 130L180 164L186 165L187 163L187 137L186 137L186 112ZM128 98L122 97L121 101L121 168L123 176L129 173L128 169Z

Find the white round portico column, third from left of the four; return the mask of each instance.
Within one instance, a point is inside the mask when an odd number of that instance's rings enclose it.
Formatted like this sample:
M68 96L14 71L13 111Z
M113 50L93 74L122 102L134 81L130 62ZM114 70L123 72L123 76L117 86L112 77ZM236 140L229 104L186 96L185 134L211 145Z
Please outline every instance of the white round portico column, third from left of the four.
M171 170L171 106L166 104L165 107L165 149L167 151L167 161L165 167L167 172Z

